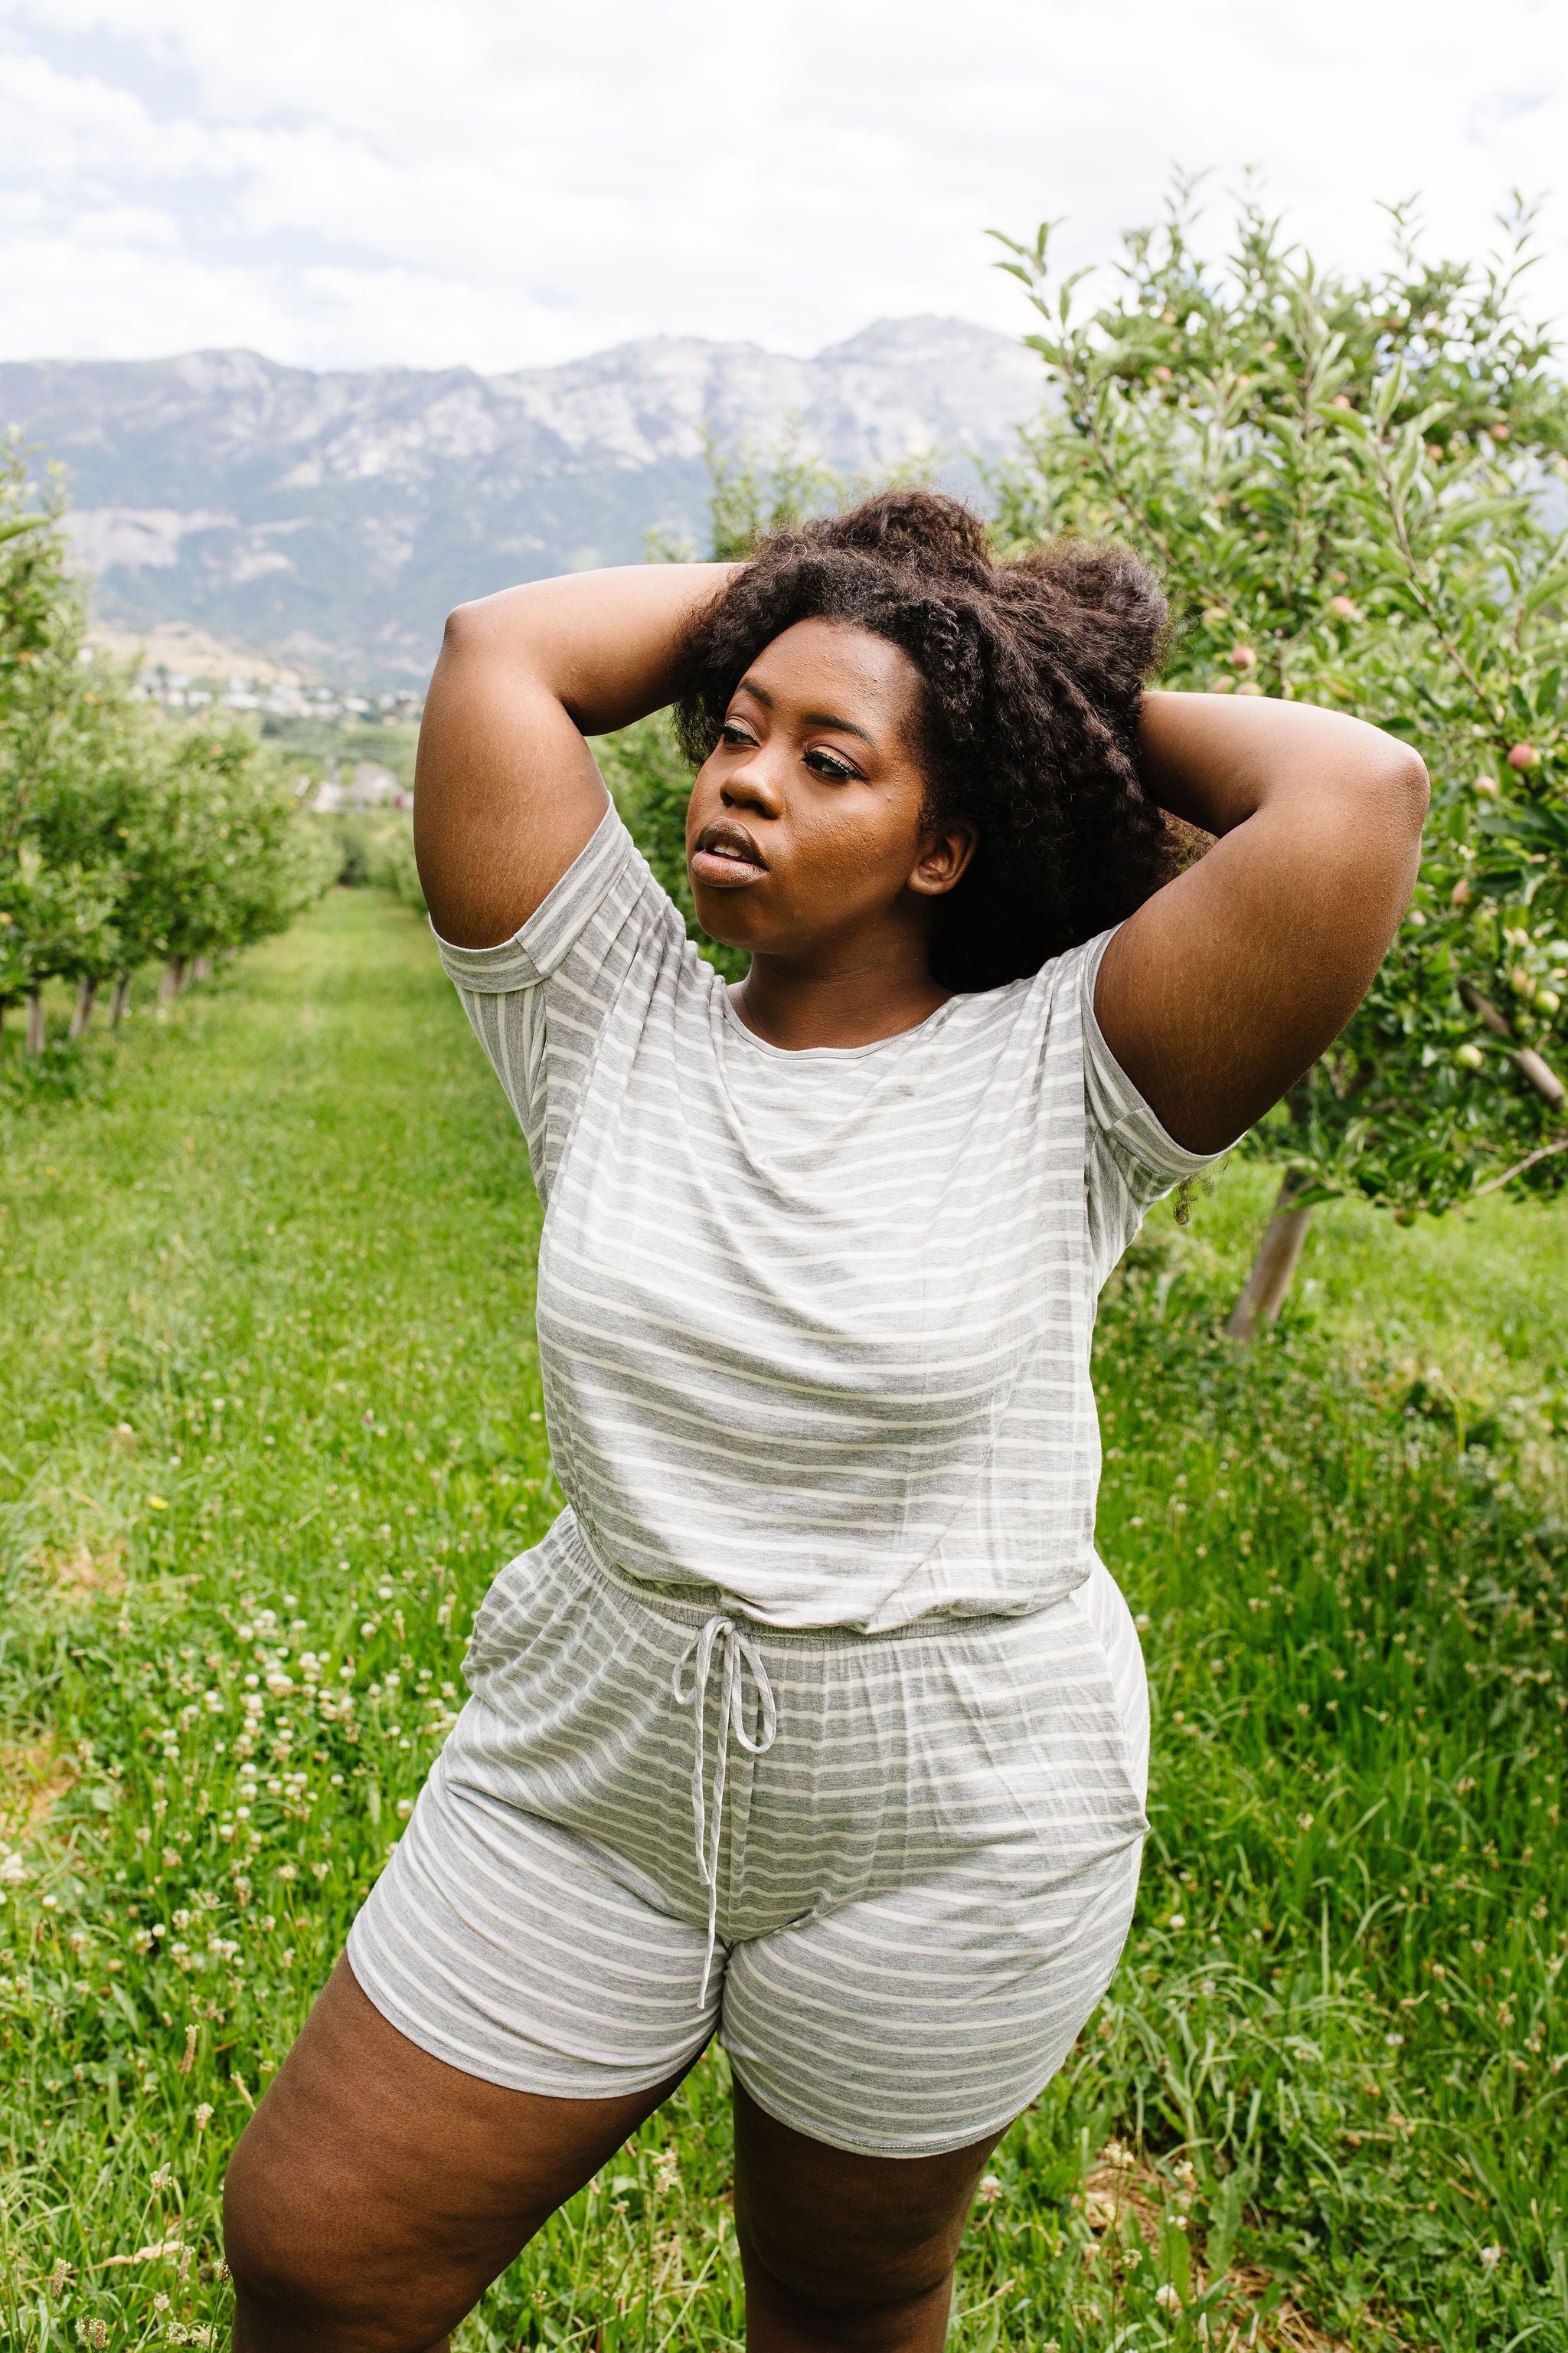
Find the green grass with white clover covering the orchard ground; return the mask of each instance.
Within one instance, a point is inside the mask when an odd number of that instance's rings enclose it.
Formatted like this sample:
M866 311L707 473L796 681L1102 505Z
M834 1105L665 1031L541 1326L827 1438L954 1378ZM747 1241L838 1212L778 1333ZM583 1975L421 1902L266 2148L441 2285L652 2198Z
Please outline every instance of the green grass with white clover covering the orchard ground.
M52 1092L5 1054L0 2339L212 2344L226 2151L557 1508L538 1209L376 894ZM1319 1212L1237 1362L1265 1200L1237 1165L1105 1301L1154 1835L985 2184L964 2353L1568 2346L1566 1219ZM461 2353L738 2346L726 2174L710 2057Z

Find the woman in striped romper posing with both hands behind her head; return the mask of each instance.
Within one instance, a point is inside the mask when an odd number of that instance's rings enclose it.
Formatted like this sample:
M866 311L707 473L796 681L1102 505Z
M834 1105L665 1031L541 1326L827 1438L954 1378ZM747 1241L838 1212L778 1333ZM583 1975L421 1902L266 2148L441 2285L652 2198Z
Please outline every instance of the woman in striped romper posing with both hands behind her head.
M451 616L418 866L569 1508L235 2155L237 2346L444 2341L715 2031L748 2344L943 2344L1145 1833L1095 1294L1359 1002L1427 798L1356 720L1145 694L1161 628L924 492ZM736 988L583 741L670 701ZM1161 812L1218 835L1175 878Z

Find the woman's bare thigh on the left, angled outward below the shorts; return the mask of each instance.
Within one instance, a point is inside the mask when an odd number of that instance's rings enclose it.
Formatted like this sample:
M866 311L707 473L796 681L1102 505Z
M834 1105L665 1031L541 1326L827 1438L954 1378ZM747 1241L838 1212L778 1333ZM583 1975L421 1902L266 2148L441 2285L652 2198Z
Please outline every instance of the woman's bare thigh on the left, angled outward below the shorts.
M409 2042L334 1969L228 2167L242 2353L423 2353L670 2097L548 2099Z

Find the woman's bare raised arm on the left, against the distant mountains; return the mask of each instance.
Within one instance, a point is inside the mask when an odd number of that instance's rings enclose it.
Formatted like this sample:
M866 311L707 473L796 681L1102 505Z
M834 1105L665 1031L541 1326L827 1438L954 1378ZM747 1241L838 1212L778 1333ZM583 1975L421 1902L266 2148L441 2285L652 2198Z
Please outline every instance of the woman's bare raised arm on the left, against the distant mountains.
M736 565L625 565L505 588L447 621L418 729L414 849L430 920L491 948L604 816L583 736L670 701L675 647Z

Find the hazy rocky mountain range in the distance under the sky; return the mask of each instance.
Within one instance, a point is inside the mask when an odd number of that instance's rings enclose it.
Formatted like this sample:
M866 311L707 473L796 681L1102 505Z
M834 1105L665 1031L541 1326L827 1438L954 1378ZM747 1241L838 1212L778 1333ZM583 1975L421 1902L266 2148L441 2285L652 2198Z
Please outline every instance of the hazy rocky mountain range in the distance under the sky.
M562 367L313 374L254 351L0 362L0 421L71 471L96 614L186 621L369 680L423 675L442 616L517 579L705 539L705 435L799 433L846 471L971 487L1039 407L990 327L882 320L811 360L654 336Z

